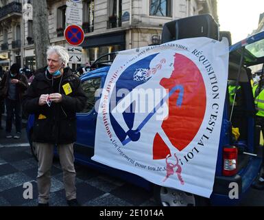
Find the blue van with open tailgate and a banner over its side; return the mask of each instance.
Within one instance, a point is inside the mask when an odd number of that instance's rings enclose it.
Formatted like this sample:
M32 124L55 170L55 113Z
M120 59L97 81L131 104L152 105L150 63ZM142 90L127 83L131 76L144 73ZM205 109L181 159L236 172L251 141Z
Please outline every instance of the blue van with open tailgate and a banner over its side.
M112 62L109 58L113 58L114 54L101 56L91 66L93 70L81 76L82 87L88 100L84 111L76 115L75 162L130 181L147 190L153 190L156 200L162 206L233 206L239 204L250 190L254 180L259 177L263 160L262 147L259 145L260 127L255 122L256 110L250 83L252 73L249 68L252 65L264 63L263 47L264 32L230 46L228 82L226 83L229 88L235 87L235 90L227 89L226 91L215 183L210 199L173 188L157 186L142 177L99 164L91 159L94 155L97 122L95 102L99 99L95 93L97 89L104 87ZM34 115L29 115L27 137L32 153L36 157L31 141L33 124ZM232 128L237 128L239 131L238 139L232 133ZM238 197L235 199L230 198L232 186L237 186L239 189Z

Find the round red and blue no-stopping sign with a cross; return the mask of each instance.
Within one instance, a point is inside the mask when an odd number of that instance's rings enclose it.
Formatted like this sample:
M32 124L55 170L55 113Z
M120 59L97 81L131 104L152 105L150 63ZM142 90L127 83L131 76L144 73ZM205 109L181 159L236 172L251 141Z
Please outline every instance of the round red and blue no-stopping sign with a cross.
M64 30L64 38L70 45L80 45L84 41L84 31L77 25L69 25Z

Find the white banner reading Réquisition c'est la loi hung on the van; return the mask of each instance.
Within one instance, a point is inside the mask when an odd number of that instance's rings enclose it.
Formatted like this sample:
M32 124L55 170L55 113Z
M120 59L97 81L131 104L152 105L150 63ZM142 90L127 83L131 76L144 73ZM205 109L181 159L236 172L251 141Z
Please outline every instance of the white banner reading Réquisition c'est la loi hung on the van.
M120 52L98 107L92 159L210 197L228 77L228 43L182 39Z

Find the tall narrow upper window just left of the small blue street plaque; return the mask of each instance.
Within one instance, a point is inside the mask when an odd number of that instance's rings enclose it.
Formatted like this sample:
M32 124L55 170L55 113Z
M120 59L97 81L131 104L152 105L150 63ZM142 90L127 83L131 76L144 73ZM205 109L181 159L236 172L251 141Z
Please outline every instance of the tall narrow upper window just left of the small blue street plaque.
M122 0L109 0L108 28L121 27Z

